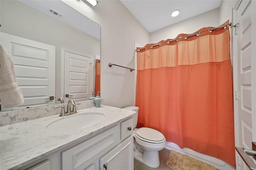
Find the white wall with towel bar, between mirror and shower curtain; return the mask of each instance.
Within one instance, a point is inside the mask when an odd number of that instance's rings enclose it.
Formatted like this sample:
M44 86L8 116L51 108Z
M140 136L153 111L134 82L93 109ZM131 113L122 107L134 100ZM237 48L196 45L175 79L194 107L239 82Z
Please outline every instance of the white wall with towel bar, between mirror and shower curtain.
M108 67L108 63L134 68L134 42L148 43L148 31L120 1L99 0L94 7L82 0L61 1L101 26L100 89L104 104L114 107L134 105L134 71Z

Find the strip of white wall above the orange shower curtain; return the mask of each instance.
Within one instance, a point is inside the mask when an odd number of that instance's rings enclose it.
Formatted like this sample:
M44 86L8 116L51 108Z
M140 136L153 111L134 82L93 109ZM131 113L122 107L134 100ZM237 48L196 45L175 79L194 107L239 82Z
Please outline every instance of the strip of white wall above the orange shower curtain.
M198 16L178 22L171 26L162 28L150 33L150 43L157 43L161 40L174 39L178 34L192 34L203 27L219 26L219 8L215 8Z

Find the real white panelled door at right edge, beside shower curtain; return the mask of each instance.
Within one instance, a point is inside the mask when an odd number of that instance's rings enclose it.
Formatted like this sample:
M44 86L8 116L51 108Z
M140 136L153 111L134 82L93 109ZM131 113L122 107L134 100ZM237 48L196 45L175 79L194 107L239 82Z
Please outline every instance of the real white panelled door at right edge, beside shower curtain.
M248 149L256 141L255 5L254 0L242 0L235 8L233 23L239 23L233 30L236 146ZM237 169L249 169L236 155Z

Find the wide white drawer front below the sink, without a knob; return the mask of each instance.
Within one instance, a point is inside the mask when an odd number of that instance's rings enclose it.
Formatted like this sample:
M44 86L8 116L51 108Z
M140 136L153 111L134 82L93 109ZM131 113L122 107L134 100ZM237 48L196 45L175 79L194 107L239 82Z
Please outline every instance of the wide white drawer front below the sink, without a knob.
M84 142L62 152L62 170L81 170L92 160L120 142L120 127L112 127Z

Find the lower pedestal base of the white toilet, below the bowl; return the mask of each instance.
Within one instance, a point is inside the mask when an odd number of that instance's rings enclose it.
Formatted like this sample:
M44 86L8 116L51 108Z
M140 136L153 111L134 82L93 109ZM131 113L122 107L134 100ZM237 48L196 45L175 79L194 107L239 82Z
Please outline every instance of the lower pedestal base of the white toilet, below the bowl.
M158 168L158 166L160 165L158 151L144 150L143 155L134 152L134 158L144 163L146 166L149 166L150 168Z

